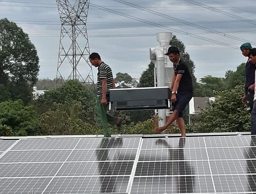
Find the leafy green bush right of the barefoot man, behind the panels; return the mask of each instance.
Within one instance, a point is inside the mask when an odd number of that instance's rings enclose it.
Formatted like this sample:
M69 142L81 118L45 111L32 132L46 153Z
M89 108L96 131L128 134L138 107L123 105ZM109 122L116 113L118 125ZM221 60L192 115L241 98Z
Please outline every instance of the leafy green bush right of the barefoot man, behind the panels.
M216 92L211 109L203 110L194 117L195 125L190 127L193 133L249 131L250 114L242 105L243 85L234 89Z

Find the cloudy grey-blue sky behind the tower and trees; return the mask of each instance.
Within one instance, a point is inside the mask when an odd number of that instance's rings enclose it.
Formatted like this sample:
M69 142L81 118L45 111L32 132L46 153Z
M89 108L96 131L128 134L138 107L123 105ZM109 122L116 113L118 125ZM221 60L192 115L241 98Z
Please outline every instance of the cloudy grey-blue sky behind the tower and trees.
M91 0L87 20L91 53L98 52L115 74L139 78L150 62L149 48L159 45L157 32L173 32L182 40L198 80L206 75L224 77L227 70L246 61L240 44L251 42L256 47L255 0L126 1L151 11L116 0ZM54 79L61 29L56 1L0 0L0 17L29 34L40 58L39 78ZM96 70L93 67L94 80Z

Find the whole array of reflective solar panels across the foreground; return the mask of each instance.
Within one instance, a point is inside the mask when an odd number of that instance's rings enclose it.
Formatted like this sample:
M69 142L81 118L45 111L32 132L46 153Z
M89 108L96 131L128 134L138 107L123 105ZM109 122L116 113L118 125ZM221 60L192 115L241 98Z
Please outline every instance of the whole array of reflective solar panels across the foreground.
M0 194L256 193L256 137L0 141Z

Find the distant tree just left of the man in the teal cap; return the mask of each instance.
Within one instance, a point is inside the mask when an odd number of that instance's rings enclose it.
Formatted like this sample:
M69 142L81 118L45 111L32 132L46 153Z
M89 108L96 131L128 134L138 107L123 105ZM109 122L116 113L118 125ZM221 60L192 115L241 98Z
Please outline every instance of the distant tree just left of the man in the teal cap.
M233 89L236 85L245 83L245 63L237 66L236 71L227 71L225 74L226 89Z

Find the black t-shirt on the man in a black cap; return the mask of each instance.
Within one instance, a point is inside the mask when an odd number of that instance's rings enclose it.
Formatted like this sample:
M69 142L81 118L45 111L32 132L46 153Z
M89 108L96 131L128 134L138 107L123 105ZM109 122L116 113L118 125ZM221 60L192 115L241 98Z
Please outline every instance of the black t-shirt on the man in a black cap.
M174 65L173 63L173 70L174 70L175 76L177 76L177 74L183 75L178 87L178 92L179 91L193 92L192 79L186 63L182 60L179 61L178 65Z

